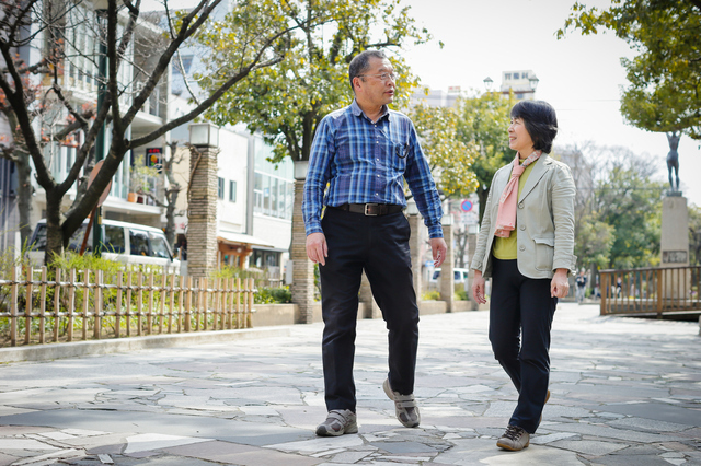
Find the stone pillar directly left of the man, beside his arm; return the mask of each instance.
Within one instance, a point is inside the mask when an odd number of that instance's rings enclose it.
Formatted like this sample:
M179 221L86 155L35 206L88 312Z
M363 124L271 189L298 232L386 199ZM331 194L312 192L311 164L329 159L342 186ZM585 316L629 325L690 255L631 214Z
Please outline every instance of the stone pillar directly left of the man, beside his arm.
M299 308L299 324L313 322L314 264L307 257L307 233L302 217L302 197L308 162L295 162L295 208L292 210L292 244L288 267L292 266L292 283L289 289L292 303Z

